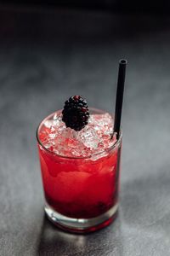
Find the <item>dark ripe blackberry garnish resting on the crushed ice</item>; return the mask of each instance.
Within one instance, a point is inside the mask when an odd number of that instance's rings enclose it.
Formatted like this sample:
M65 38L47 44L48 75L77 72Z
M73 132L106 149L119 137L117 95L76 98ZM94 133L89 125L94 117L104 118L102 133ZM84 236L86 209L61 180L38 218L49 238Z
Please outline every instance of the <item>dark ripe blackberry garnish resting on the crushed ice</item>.
M80 131L88 125L89 111L88 104L82 96L71 96L66 102L62 111L62 120L66 127Z

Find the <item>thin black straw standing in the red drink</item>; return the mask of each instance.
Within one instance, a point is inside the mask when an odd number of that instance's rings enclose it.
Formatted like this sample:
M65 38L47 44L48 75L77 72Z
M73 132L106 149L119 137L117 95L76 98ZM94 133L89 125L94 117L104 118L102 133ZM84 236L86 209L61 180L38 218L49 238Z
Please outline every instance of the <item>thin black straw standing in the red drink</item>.
M116 89L115 122L114 122L114 132L116 132L117 139L119 139L119 136L120 136L122 101L123 101L123 92L124 92L124 84L125 84L126 66L127 66L126 60L119 61L119 73L118 73L117 89Z

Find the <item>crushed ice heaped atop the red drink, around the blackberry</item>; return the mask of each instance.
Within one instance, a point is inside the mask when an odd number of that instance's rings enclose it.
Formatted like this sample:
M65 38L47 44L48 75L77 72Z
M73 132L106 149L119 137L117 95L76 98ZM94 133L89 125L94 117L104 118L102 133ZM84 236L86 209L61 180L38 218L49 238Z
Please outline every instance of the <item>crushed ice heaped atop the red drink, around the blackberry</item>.
M91 114L82 131L66 128L61 113L54 113L42 125L40 140L45 148L64 156L90 156L105 151L116 143L111 139L113 119L109 113Z

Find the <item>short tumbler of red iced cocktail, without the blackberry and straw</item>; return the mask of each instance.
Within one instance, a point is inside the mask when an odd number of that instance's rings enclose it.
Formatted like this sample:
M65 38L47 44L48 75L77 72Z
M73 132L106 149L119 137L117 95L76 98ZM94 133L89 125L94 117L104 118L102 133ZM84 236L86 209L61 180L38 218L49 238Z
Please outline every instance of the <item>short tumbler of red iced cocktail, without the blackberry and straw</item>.
M111 115L96 109L82 131L66 128L60 111L39 125L45 210L55 224L90 231L111 222L117 210L122 141L111 139L112 131Z

